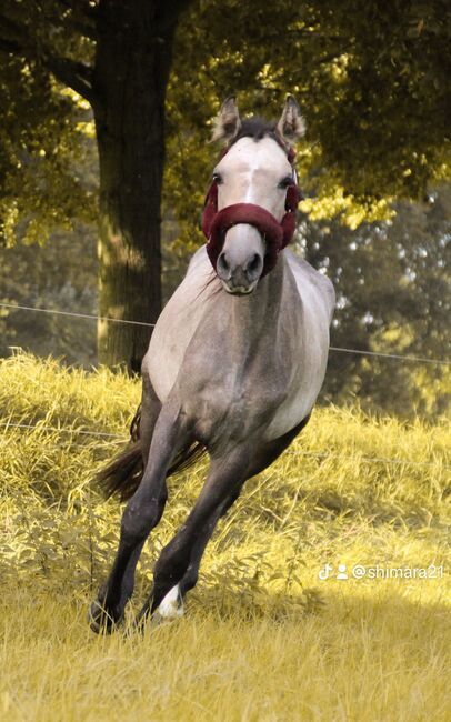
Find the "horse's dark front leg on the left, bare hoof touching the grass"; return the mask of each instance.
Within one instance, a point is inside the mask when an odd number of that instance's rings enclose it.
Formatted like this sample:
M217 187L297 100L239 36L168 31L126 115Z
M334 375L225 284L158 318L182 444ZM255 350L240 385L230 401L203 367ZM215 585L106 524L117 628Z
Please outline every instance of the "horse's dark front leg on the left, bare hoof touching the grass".
M134 584L134 570L150 531L158 524L167 501L166 475L171 460L187 442L179 408L163 407L158 418L141 483L129 500L121 522L119 549L111 573L90 609L94 632L111 631L123 619Z

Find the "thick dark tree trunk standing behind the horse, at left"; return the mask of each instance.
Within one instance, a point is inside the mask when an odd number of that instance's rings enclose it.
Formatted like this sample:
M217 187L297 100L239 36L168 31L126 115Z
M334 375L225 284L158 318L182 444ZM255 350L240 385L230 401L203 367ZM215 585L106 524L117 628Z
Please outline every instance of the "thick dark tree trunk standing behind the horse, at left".
M94 118L102 317L154 323L161 310L164 98L181 4L167 2L167 11L161 0L99 4ZM144 325L100 321L99 361L139 371L150 334Z

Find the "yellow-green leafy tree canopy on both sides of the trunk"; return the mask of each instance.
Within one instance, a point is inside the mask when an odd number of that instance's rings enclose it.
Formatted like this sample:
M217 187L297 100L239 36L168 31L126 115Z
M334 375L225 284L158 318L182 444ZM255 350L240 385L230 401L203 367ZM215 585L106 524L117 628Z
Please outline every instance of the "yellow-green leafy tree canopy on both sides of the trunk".
M3 3L0 217L9 243L14 233L42 240L56 221L93 217L93 188L73 171L74 157L93 153L80 96L64 94L51 73L90 96L96 9ZM267 116L280 113L287 92L297 94L309 128L300 167L314 199L304 210L314 219L340 215L355 228L389 217L392 199L418 197L449 177L450 41L444 0L191 2L179 23L167 103L166 198L179 240L199 241L208 122L230 92L244 112ZM179 244L172 250L177 255Z

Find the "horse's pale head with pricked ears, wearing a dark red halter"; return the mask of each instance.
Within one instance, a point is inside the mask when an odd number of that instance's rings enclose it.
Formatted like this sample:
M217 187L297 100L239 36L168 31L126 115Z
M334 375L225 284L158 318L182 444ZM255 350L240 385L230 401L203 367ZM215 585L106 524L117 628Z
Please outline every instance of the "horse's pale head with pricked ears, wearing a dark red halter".
M303 133L291 97L278 123L241 122L234 98L220 110L212 140L223 140L225 150L212 174L202 228L229 293L251 293L293 235L299 201L293 146Z

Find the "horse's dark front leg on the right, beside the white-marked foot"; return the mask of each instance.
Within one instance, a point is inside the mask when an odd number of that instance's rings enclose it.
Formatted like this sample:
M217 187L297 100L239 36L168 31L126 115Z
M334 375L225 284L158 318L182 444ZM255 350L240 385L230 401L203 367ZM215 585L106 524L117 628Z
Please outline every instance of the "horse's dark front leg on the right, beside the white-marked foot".
M198 501L186 523L164 546L157 561L153 588L139 614L138 622L153 614L163 600L164 604L161 609L163 615L166 604L171 604L177 609L177 605L181 603L179 584L188 574L191 561L193 562L192 571L197 574L198 558L200 561L218 519L231 501L238 497L247 479L249 453L250 450L242 447L235 448L228 459L224 457L211 459L209 475Z

